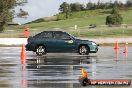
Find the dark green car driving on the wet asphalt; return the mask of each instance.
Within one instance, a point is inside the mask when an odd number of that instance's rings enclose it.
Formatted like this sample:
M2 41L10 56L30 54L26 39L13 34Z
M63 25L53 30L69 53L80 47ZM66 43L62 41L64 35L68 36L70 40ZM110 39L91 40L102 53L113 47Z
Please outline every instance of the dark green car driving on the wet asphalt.
M75 52L80 55L96 53L98 45L89 40L77 39L63 31L43 31L28 38L27 51L36 52L38 56L56 52Z

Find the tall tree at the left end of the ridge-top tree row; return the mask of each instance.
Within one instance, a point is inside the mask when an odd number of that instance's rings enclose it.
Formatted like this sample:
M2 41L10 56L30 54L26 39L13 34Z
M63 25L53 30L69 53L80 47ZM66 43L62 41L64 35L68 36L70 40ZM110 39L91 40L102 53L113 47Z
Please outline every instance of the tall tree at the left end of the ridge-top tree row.
M70 5L67 3L67 2L63 2L61 5L60 5L60 8L59 10L62 12L62 13L65 13L66 15L66 19L68 18L68 15L71 11L71 8L70 8Z

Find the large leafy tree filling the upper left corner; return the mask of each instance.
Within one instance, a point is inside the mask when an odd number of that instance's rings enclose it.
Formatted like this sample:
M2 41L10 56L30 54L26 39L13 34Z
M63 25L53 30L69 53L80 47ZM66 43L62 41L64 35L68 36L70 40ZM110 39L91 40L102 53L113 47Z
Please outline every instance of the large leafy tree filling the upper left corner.
M5 25L14 18L14 7L25 3L25 0L0 0L0 32L3 32Z

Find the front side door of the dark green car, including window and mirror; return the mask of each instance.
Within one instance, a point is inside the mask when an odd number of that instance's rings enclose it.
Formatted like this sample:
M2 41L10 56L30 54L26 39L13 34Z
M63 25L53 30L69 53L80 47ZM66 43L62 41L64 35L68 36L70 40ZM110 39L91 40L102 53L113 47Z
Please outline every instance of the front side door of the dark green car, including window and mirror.
M73 52L77 47L76 42L66 32L54 32L54 42L57 52Z

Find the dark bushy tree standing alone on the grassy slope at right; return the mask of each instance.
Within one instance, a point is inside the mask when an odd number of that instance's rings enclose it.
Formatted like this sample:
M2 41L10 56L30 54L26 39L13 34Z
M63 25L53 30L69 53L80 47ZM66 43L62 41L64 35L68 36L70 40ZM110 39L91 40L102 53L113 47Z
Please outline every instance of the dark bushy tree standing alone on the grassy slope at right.
M116 4L114 5L111 15L106 17L106 25L121 25L123 18L119 14Z

